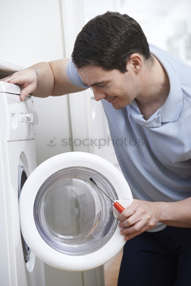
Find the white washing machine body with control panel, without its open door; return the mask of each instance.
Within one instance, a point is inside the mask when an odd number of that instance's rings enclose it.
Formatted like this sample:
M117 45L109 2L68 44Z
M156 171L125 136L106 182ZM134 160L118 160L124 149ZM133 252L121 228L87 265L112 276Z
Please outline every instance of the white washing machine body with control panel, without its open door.
M28 247L19 226L18 198L36 168L38 123L32 97L21 102L20 91L19 86L0 81L0 284L45 286L44 263Z

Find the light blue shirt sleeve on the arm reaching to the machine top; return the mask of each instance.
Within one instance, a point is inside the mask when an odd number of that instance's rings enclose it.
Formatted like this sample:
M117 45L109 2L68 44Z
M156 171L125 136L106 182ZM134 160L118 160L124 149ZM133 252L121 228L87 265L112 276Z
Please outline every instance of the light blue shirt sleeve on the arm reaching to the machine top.
M72 62L72 59L70 59L66 65L66 74L68 76L68 79L72 84L75 86L78 86L80 88L89 88L87 84L84 84L82 79L80 78L76 67L74 66L74 63Z

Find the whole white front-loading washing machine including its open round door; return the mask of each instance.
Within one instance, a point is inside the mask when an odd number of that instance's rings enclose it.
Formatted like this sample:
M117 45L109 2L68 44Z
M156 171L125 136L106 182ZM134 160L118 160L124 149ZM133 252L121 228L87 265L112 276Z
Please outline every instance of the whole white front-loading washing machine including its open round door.
M103 265L125 240L119 212L99 187L125 208L133 200L127 181L107 160L85 152L36 167L32 97L21 102L19 86L0 82L0 88L3 285L44 285L43 262L66 271Z

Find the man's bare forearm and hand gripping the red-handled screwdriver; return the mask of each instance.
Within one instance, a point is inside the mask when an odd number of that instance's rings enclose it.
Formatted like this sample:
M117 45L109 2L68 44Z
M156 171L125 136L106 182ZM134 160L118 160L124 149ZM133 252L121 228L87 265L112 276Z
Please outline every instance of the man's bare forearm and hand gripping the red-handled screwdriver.
M133 200L118 217L120 232L129 240L154 228L157 223L191 228L191 197L177 202Z

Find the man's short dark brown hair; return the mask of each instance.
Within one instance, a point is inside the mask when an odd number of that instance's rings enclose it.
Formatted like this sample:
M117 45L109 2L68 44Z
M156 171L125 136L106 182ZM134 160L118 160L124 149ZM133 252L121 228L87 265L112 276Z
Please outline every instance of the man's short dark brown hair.
M152 61L141 26L127 14L107 12L91 19L76 37L72 61L81 69L88 65L127 72L129 56L139 53Z

